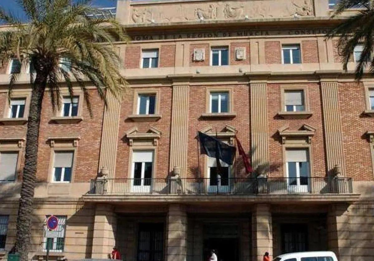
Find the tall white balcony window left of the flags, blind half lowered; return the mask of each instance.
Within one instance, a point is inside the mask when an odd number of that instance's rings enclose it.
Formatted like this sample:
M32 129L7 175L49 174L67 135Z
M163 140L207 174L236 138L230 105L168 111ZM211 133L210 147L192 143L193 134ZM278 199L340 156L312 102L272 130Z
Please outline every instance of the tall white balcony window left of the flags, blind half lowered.
M150 192L153 172L153 151L132 153L132 192Z

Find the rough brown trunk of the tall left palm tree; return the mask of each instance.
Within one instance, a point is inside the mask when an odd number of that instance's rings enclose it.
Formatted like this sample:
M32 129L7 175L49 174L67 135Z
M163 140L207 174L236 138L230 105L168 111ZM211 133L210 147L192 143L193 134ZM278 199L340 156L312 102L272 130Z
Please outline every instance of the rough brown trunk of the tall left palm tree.
M36 180L40 114L46 87L46 77L36 77L32 87L30 113L27 123L25 166L16 224L16 249L21 261L28 261L31 245L31 214Z

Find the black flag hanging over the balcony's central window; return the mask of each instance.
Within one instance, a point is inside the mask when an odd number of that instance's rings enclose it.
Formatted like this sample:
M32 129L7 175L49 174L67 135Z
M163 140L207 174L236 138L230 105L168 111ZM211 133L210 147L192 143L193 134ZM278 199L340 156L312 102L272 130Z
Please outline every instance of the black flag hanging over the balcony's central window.
M199 132L199 140L200 140L200 153L206 154L209 157L217 159L217 167L218 167L218 159L222 160L223 162L232 165L234 161L234 156L236 152L236 148L229 144L226 144L219 139L216 139L212 136L206 135L205 133Z

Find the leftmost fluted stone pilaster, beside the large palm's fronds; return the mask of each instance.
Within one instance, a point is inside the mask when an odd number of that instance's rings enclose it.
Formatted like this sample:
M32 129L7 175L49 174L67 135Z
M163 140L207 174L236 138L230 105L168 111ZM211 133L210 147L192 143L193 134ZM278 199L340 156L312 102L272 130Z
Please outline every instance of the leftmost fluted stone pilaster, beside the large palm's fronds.
M113 178L116 171L121 103L110 91L107 92L107 102L108 107L104 109L104 119L102 123L99 172L101 172L102 167L107 167L108 177Z

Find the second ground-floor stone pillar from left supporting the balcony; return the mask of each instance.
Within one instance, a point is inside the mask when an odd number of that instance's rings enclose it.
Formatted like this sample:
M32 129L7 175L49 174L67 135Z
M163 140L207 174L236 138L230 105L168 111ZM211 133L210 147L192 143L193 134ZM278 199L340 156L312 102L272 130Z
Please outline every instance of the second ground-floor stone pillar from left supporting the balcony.
M185 206L170 205L167 223L166 261L186 261L187 216Z

